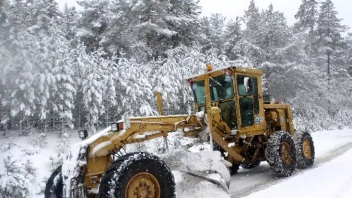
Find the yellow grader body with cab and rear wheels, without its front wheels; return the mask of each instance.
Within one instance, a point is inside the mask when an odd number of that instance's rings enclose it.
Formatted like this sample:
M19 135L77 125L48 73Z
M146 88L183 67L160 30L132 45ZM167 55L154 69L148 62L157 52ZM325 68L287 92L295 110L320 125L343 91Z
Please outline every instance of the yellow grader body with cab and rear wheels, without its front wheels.
M176 130L181 130L186 137L205 135L206 141L214 141L214 149L232 163L232 174L240 165L252 168L260 161L268 161L274 172L283 177L290 176L296 167L311 167L312 138L307 132L295 132L289 104L270 104L263 100L262 74L259 69L213 70L208 65L206 73L188 79L198 113L163 115L161 94L157 92L161 116L124 117L98 134L85 137L87 163L80 168L84 188L99 187L102 176L113 164L112 155L126 144L166 138Z

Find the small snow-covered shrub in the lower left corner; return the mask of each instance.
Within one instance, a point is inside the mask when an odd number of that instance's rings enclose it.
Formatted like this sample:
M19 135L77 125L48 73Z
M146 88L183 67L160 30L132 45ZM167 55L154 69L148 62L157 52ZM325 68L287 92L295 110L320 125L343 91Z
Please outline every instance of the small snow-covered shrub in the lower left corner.
M11 156L4 159L0 171L0 192L4 198L22 198L33 194L34 167L30 161L20 163Z

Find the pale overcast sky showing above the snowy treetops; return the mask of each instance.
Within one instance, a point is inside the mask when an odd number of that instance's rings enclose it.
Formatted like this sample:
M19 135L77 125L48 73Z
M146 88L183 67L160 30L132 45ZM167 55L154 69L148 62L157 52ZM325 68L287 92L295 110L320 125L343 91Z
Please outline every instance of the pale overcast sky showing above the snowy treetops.
M57 0L59 6L63 8L65 2L69 6L77 6L75 0ZM249 6L250 0L200 0L202 15L209 16L212 13L221 13L227 19L243 16L244 10ZM274 10L284 12L289 25L295 23L294 15L301 4L301 0L255 0L256 6L260 10L268 8L270 3L274 5ZM352 0L333 0L339 18L343 18L343 24L352 27ZM78 7L77 7L78 8ZM352 32L352 29L349 30Z

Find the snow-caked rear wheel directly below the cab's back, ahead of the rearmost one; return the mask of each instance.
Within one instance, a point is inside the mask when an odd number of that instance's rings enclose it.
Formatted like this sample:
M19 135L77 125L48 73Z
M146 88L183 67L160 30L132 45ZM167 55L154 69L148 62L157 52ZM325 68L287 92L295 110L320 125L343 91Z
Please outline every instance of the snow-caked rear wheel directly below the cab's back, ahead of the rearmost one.
M287 131L276 131L269 136L266 160L278 177L291 176L297 167L295 142Z

